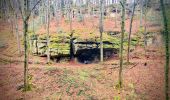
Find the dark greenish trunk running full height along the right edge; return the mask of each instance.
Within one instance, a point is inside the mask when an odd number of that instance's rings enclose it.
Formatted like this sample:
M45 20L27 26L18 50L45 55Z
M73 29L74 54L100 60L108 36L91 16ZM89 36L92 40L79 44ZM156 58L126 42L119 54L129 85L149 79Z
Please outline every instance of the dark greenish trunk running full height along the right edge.
M166 64L165 64L165 97L169 100L169 32L168 32L168 19L166 16L166 10L164 6L164 0L160 0L162 15L164 21L164 35L165 35L165 51L166 51Z

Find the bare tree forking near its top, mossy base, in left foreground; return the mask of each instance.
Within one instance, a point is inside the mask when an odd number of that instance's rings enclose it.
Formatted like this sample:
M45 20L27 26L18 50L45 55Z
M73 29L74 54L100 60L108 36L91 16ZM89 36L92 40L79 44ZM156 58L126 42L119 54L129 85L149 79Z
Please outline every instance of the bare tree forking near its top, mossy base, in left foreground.
M41 0L37 1L37 3L34 5L32 9L30 9L29 6L29 0L24 0L21 3L20 0L18 0L19 3L19 10L22 16L23 20L23 27L24 27L24 91L29 90L29 84L28 84L28 21L31 15L31 12L35 9L35 7L39 4ZM23 4L23 5L22 5Z

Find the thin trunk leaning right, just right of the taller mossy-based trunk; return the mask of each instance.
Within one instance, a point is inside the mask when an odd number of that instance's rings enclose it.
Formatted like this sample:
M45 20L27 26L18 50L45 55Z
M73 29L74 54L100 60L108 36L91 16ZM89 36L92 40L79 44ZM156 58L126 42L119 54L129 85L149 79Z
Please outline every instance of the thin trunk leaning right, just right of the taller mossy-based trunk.
M133 24L133 17L135 13L135 7L136 4L134 2L133 8L132 8L132 15L130 18L130 30L129 30L129 36L128 36L128 53L127 53L127 62L129 63L129 53L130 53L130 46L131 46L131 33L132 33L132 24Z

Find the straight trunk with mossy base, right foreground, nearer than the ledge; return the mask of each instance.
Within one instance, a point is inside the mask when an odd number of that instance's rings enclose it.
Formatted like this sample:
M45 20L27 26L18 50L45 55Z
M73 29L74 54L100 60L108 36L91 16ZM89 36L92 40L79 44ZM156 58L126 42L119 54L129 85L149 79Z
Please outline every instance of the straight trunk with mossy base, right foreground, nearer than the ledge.
M123 84L122 68L123 68L123 40L124 40L124 33L125 33L125 4L126 4L126 0L121 0L122 22L121 22L121 45L120 45L120 69L119 69L119 85L120 85L120 88L122 87L122 84Z

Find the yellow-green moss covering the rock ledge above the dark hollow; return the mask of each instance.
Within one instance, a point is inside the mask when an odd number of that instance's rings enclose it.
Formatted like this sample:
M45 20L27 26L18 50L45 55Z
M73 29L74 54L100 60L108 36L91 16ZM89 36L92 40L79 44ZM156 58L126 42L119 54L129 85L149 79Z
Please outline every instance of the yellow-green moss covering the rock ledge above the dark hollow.
M83 38L82 32L84 30L74 30L73 38L76 39L78 42L97 42L100 43L99 34L94 32L85 33L88 35L89 38ZM43 47L40 48L40 51L46 51L46 34L40 35L38 38L39 42L44 44ZM127 49L128 46L128 39L124 40L124 49ZM138 37L132 37L132 46L136 46L138 43ZM110 36L107 33L103 33L103 47L104 48L113 48L119 49L120 48L120 37L118 36ZM100 45L99 45L100 46ZM70 53L70 34L67 32L64 33L53 33L50 34L50 49L51 55L58 55L58 54L69 54Z

